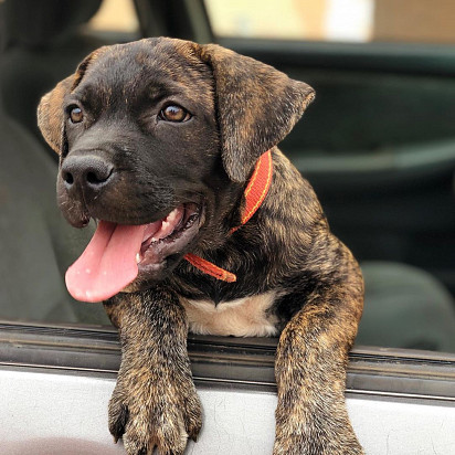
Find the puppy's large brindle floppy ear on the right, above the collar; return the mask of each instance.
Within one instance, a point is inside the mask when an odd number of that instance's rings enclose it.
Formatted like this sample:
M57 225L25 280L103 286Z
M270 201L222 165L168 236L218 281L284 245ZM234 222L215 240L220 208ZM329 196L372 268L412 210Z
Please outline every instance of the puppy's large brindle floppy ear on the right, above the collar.
M257 158L290 131L315 98L315 91L216 44L200 49L215 81L224 169L231 180L244 182Z

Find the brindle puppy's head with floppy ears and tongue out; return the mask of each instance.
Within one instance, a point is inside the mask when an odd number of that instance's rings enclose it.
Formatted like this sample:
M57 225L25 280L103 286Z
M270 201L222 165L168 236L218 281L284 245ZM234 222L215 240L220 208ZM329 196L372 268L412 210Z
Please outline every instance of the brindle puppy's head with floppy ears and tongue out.
M60 154L57 198L98 228L70 268L74 297L99 301L161 279L231 228L257 158L314 98L306 84L218 45L149 39L102 47L39 106Z

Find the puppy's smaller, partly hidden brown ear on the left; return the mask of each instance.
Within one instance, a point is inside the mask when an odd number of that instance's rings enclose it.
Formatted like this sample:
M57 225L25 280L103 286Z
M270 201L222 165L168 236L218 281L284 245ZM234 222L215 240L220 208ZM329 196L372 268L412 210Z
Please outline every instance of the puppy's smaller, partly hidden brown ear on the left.
M67 94L77 87L81 80L93 60L99 56L105 51L105 47L100 47L92 52L84 61L78 65L76 72L71 76L60 82L55 88L45 94L38 106L38 126L45 139L45 141L57 154L62 152L63 148L63 125L64 125L64 112L63 100Z

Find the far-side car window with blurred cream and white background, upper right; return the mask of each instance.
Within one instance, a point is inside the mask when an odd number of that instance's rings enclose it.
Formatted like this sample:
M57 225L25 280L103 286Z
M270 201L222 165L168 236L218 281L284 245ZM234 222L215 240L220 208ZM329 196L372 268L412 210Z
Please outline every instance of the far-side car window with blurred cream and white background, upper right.
M338 42L453 43L443 0L205 0L218 36Z

